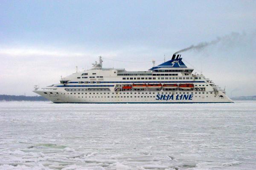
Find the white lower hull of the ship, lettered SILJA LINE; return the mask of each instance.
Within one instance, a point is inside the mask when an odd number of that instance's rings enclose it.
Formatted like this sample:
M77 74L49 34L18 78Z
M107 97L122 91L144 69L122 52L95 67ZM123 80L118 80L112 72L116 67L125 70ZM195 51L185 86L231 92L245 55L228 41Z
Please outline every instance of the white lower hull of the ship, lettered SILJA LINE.
M64 89L34 91L54 103L230 103L222 91L140 91L140 92L76 92ZM45 94L48 92L47 94ZM52 94L50 94L52 92ZM56 93L57 92L57 93ZM90 94L91 93L91 94ZM139 94L140 93L140 94ZM200 94L199 94L200 93ZM204 94L203 94L204 93Z

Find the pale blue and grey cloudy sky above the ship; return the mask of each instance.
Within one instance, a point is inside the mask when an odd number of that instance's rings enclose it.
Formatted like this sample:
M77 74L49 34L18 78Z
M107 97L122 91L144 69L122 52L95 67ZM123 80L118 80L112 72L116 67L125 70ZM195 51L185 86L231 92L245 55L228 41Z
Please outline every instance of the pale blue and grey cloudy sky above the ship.
M147 70L141 61L218 38L182 53L184 62L229 96L256 95L255 9L250 0L1 0L0 94L35 95L33 85L90 68L99 55L138 61L104 59L104 67Z

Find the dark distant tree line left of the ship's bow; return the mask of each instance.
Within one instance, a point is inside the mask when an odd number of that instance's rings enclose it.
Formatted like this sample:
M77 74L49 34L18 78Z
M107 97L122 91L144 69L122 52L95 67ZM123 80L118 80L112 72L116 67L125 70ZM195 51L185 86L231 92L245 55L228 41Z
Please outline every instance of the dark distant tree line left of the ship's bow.
M42 96L0 95L0 101L49 101Z

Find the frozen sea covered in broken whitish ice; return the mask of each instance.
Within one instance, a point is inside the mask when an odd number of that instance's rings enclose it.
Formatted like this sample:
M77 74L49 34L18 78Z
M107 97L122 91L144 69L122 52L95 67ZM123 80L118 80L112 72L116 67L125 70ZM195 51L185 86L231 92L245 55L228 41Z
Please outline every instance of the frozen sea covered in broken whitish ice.
M0 170L252 170L256 101L0 102Z

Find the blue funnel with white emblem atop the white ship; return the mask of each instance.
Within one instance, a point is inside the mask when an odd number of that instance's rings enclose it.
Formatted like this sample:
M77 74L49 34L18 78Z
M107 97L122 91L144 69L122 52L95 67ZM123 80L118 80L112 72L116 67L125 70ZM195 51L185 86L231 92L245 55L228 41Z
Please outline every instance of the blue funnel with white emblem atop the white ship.
M172 59L164 62L156 67L152 67L149 71L158 70L159 68L187 68L187 66L182 62L182 58L180 58L181 54L173 54Z

